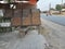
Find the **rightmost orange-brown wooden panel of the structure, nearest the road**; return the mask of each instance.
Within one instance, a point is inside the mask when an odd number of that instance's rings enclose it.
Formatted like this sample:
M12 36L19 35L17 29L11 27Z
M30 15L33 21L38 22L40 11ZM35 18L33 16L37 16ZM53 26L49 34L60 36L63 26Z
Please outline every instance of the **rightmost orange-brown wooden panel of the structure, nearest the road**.
M32 9L32 25L40 25L40 13L37 9Z

